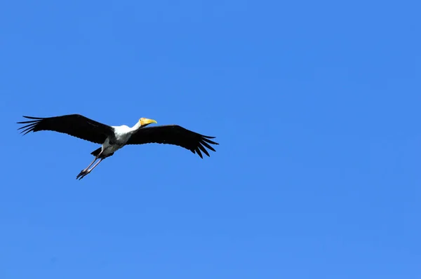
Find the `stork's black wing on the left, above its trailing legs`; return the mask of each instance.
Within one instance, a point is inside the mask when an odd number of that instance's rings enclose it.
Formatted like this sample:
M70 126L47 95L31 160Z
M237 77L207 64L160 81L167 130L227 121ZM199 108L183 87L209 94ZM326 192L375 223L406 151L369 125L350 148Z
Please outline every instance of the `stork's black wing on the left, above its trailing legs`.
M80 114L68 114L54 117L32 117L23 116L32 119L31 121L18 122L26 124L18 130L22 130L24 135L28 132L37 132L41 130L50 130L55 132L63 132L73 137L79 137L82 140L102 144L108 135L113 135L113 128L109 125L93 121Z

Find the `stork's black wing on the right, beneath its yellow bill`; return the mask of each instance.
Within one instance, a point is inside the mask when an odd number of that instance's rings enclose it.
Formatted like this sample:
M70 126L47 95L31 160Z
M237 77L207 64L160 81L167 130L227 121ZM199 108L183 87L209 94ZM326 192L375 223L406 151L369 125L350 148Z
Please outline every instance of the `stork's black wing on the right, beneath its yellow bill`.
M200 158L203 158L201 151L209 156L206 148L215 151L209 144L218 144L212 140L215 137L200 135L197 132L192 132L179 125L161 125L154 127L140 128L138 132L133 134L128 140L127 144L173 144L179 147L189 149L193 153L197 153ZM206 147L206 148L205 148Z

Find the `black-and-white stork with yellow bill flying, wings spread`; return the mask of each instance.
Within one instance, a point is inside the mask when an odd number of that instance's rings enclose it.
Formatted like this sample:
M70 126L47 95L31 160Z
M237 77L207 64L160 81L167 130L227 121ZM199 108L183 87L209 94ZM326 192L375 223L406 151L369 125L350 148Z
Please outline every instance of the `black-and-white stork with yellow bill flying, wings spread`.
M105 158L113 156L114 152L126 145L131 144L172 144L192 151L202 159L201 152L210 157L207 149L215 151L210 144L218 145L213 142L215 137L201 135L197 132L187 130L180 125L156 125L149 126L152 123L157 124L154 119L140 118L133 127L127 125L112 126L94 121L91 118L81 114L66 114L52 117L34 117L22 116L30 119L29 121L20 121L22 125L18 130L26 135L28 132L38 132L50 130L54 132L65 133L81 140L87 140L95 144L101 144L101 147L91 152L95 158L79 172L76 179L82 179L101 163ZM95 161L99 160L97 163ZM93 165L95 163L95 165ZM91 168L91 166L93 167Z

